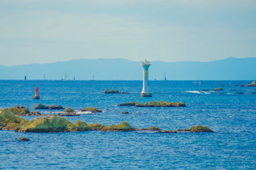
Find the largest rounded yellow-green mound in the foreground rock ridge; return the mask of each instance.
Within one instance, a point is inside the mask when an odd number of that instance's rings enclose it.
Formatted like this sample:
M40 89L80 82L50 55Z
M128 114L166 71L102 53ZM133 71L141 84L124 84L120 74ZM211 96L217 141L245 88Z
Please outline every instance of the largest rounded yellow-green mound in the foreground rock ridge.
M69 132L77 127L62 117L38 117L20 126L19 132Z

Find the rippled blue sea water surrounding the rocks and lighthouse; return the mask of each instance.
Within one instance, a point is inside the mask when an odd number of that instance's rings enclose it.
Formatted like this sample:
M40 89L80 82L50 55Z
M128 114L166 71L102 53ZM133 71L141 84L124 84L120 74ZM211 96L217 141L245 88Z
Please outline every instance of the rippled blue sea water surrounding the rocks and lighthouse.
M0 169L256 169L256 87L233 86L252 81L192 82L150 81L153 97L140 97L142 81L1 80L0 108L21 105L33 110L37 103L74 110L92 106L104 112L67 119L104 125L127 121L132 127L163 130L206 125L214 133L0 131ZM223 91L212 91L221 84ZM36 85L39 101L33 100ZM102 94L105 89L131 94ZM161 100L182 101L187 107L117 106ZM31 141L17 141L22 136Z

